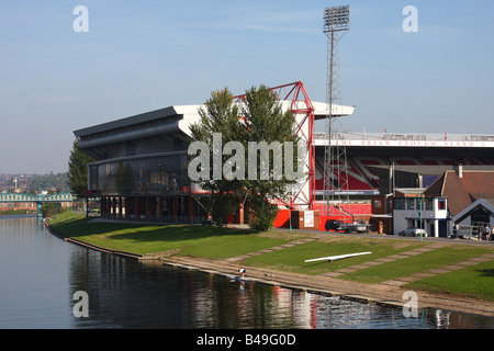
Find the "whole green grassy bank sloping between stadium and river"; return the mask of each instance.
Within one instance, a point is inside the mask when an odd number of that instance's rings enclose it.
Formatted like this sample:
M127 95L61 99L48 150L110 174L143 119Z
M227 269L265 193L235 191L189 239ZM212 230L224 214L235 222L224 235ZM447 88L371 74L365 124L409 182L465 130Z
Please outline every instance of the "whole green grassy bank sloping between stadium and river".
M83 218L74 213L60 214L50 224L55 230L67 237L114 250L134 253L179 250L177 254L210 259L226 259L308 237L305 234L291 234L289 230L256 234L250 230L207 226L104 223ZM400 252L427 248L430 245L431 241L427 240L420 242L406 239L386 240L383 237L322 235L321 239L316 241L254 256L242 262L246 265L317 275L388 258ZM362 251L372 253L335 262L304 262L306 259L317 257ZM494 246L471 246L457 242L429 252L359 269L340 275L338 279L380 283L446 264L454 264L489 252L494 252ZM424 278L404 287L494 301L494 260L476 265L467 265L450 273Z

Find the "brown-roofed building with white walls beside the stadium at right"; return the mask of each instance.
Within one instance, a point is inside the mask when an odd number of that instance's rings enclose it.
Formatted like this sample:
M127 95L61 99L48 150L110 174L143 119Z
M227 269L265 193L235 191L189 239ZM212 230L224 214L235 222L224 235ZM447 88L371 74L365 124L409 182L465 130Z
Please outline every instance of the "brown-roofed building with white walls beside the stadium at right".
M393 199L393 233L424 228L428 236L478 234L494 225L494 171L448 170L426 190L396 190Z

